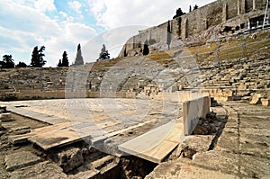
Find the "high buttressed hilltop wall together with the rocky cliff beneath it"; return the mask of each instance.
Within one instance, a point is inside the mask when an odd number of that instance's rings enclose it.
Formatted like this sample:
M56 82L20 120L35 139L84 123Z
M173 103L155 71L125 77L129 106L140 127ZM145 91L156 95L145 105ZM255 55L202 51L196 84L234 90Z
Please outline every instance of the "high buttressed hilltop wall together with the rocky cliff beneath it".
M205 43L215 36L262 27L265 14L266 0L217 0L169 22L139 31L138 35L126 42L120 57L124 57L124 51L128 56L139 54L146 40L166 44L168 23L173 39L171 46L174 47L182 42ZM266 22L269 23L269 19ZM152 50L154 49L158 48L154 46Z

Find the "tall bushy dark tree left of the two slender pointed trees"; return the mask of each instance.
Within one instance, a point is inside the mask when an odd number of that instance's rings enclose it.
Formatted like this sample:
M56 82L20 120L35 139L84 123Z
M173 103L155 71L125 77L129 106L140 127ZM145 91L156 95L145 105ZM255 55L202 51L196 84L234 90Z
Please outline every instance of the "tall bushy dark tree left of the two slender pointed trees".
M43 53L44 50L44 46L41 46L40 49L38 48L38 46L34 47L31 53L32 67L43 67L46 64L47 61L43 59L43 57L45 57Z

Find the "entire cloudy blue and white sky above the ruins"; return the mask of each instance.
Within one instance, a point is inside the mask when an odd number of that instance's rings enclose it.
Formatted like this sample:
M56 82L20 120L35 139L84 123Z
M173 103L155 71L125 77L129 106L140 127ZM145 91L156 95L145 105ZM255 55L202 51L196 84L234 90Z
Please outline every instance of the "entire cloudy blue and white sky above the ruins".
M139 29L172 19L178 7L187 12L190 4L202 6L213 1L1 0L0 55L11 54L16 64L23 61L29 65L32 49L44 45L46 67L55 67L64 50L72 63L78 43L84 47L103 36L110 44L115 41L112 35L116 35L121 40L108 46L112 57L116 57L124 41ZM83 49L83 57L84 50L92 54L84 57L85 62L98 58L103 42Z

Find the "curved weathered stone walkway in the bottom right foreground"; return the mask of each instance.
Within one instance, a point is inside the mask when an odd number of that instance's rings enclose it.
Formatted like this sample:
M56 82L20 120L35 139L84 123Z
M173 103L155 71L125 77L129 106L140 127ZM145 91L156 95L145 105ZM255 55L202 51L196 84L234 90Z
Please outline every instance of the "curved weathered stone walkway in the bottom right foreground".
M212 150L157 166L147 178L269 178L270 109L223 103L229 119Z

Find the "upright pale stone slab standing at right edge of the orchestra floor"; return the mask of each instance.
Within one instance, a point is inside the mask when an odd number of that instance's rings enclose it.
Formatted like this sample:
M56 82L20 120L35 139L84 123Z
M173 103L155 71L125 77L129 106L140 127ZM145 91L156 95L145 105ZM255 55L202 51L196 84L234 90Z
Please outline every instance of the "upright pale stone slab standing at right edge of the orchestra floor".
M210 112L210 97L186 101L183 103L184 135L190 135L195 129L199 118L205 118Z

